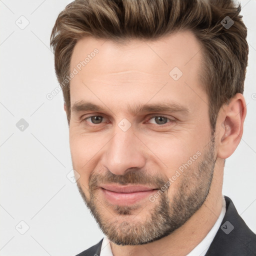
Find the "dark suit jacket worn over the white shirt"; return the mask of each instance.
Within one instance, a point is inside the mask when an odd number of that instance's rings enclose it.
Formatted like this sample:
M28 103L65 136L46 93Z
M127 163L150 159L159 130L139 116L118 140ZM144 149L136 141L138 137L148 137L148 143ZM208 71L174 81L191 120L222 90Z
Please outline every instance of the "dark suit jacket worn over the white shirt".
M256 234L239 216L233 202L227 196L226 213L205 256L255 256ZM103 238L76 256L98 256Z

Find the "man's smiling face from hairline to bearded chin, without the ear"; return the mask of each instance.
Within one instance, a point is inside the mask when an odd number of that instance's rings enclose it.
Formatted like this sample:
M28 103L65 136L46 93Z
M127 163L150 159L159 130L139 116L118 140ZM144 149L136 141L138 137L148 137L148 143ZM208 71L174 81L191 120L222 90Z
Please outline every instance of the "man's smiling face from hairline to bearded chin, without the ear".
M189 31L122 45L88 37L74 47L72 164L84 201L116 244L170 234L208 194L216 157L201 58Z

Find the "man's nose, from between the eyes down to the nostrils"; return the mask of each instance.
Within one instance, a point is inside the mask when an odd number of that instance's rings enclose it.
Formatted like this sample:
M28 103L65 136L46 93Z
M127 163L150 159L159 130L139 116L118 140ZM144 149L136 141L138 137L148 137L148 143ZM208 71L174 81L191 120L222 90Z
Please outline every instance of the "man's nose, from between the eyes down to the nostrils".
M102 164L115 175L124 175L129 168L145 165L143 143L130 128L122 131L119 127L110 139L102 156Z

